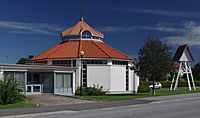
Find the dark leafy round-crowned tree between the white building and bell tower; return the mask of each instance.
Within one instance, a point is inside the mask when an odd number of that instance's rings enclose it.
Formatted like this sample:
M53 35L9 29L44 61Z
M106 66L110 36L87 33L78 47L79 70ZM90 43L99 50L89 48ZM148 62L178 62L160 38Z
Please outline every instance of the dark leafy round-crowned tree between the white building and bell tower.
M138 75L153 81L153 83L170 72L170 48L158 38L147 37L145 45L139 50L138 58ZM155 86L153 86L152 94L155 95Z

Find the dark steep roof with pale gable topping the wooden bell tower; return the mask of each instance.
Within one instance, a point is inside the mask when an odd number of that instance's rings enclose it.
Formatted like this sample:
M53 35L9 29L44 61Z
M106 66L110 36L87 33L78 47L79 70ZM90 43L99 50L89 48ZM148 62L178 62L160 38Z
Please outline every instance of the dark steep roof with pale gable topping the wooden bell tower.
M178 47L173 57L173 61L194 61L194 57L187 44Z

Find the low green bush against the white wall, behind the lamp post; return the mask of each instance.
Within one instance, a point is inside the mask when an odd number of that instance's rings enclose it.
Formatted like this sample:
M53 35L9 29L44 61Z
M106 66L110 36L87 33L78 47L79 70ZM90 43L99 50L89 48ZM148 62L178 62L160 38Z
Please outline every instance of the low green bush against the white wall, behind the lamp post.
M93 95L105 95L106 92L102 91L101 87L82 87L82 95L84 96L93 96ZM80 87L76 89L75 95L80 95Z

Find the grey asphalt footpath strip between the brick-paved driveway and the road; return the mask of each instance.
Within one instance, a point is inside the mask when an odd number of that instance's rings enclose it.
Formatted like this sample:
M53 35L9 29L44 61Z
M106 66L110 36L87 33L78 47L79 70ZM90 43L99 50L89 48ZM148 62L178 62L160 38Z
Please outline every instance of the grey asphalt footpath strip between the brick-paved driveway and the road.
M143 99L132 99L132 100L121 100L121 101L108 101L108 102L94 102L84 104L72 104L72 105L61 105L61 106L48 106L39 108L25 108L25 109L0 109L0 117L3 116L17 116L27 114L48 114L48 113L62 113L63 111L82 111L90 109L101 109L109 107L119 107L127 105L138 105L150 103L156 100L143 100Z

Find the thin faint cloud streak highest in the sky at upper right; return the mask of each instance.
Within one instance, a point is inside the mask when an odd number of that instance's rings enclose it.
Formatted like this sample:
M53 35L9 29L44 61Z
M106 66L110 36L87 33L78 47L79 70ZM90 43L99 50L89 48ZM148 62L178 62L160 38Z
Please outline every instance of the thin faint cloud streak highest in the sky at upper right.
M185 17L185 18L199 18L200 17L199 13L169 11L169 10L159 10L159 9L120 8L117 10L124 11L124 12L145 13L145 14L154 14L154 15L162 15L162 16L179 16L179 17Z

